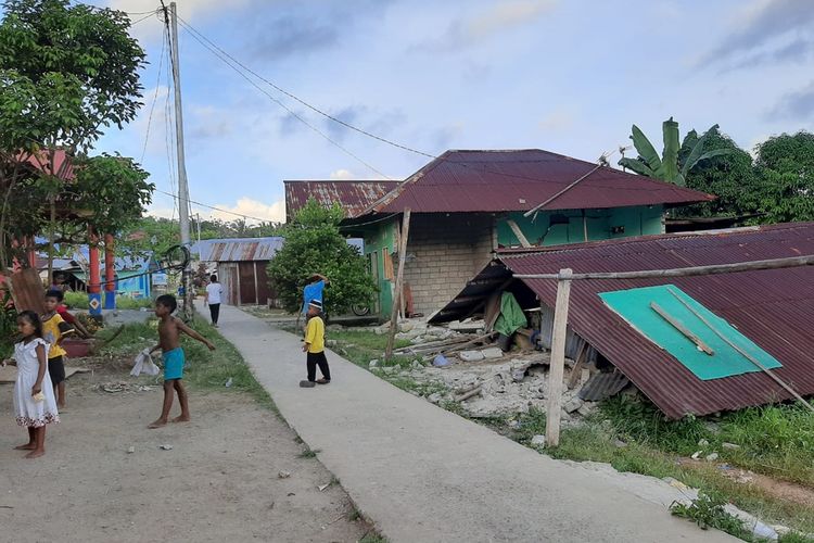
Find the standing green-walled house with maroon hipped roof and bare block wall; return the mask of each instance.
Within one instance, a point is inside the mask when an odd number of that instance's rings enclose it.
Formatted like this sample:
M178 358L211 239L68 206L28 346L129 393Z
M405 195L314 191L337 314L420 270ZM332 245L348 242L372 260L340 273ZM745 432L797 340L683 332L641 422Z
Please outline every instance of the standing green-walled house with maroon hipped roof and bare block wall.
M309 195L347 210L387 316L406 209L405 313L430 316L495 251L660 235L667 209L713 198L539 149L447 151L403 182L285 181L287 215Z

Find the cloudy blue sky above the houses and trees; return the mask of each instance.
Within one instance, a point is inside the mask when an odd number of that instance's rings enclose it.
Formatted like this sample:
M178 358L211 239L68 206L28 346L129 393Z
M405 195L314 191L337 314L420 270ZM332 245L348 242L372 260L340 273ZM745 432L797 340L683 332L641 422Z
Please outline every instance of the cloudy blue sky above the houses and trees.
M157 2L96 3L139 13ZM660 148L661 122L671 115L682 134L718 123L747 149L814 124L810 0L178 4L183 21L277 86L349 124L435 155L447 149L542 148L595 161L627 144L633 123ZM132 27L151 63L142 78L145 105L138 121L107 134L98 150L137 160L143 153L152 180L171 192L162 24L148 16ZM283 179L402 179L428 162L347 130L259 83L262 92L187 30L179 43L194 201L281 220ZM173 215L173 202L158 193L151 212Z

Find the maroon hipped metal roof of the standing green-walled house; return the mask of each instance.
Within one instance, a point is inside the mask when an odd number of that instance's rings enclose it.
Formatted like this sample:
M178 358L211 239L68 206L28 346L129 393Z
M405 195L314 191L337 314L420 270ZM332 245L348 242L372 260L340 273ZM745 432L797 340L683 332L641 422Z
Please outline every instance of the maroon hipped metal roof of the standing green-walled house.
M529 211L596 164L539 149L447 151L368 207L367 213ZM714 197L611 167L600 167L545 210L682 205Z

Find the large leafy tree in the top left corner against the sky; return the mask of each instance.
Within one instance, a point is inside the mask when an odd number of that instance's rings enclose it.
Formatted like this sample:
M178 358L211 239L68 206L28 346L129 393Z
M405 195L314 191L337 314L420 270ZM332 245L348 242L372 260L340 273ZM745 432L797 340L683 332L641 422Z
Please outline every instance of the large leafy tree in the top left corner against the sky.
M135 118L144 51L119 11L69 0L7 0L3 11L0 265L5 266L12 237L39 233L46 224L53 233L65 185L55 150L69 156L87 152L102 128L122 128Z

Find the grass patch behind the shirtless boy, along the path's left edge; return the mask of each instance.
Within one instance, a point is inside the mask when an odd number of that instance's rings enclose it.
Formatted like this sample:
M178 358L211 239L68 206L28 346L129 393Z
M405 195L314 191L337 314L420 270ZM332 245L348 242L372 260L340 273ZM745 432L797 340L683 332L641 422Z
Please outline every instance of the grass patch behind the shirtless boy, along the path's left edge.
M257 382L234 345L199 316L195 316L191 327L212 341L216 350L209 351L206 345L186 334L181 336L181 346L187 355L183 380L190 388L226 393L245 392L260 405L278 413L271 396ZM155 346L158 341L157 329L158 321L155 318L151 318L145 324L127 325L111 343L100 350L100 354L135 356L144 348ZM107 328L97 336L104 339L110 338L114 332L114 328ZM227 388L226 383L230 379L230 386Z

